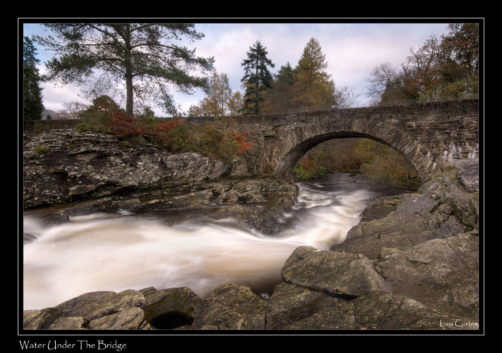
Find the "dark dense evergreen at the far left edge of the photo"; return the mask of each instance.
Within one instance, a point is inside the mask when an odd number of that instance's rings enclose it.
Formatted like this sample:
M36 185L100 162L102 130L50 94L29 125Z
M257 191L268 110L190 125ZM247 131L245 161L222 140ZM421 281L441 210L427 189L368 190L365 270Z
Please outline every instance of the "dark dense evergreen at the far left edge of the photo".
M23 42L23 119L42 119L42 89L38 85L40 81L37 64L40 62L36 58L37 49L28 37L24 37Z

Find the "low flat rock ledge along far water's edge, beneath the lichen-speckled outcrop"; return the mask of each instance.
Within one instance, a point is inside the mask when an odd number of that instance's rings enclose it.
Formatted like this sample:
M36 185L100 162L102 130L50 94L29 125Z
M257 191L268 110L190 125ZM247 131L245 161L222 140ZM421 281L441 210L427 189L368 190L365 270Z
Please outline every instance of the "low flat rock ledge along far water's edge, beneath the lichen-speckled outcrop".
M69 203L55 207L55 215L46 218L60 220L68 219L68 215L100 212L159 214L166 211L162 217L166 224L171 225L197 218L204 221L205 213L210 213L213 219L233 218L246 228L270 234L286 221L286 214L295 204L297 194L295 184L272 176L230 178Z

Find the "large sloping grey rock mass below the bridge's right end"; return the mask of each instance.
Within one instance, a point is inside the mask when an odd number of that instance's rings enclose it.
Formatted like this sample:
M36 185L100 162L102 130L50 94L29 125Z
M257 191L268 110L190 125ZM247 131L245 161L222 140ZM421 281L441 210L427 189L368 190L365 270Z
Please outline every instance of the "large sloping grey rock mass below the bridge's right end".
M361 253L378 259L381 248L406 250L435 238L447 238L478 227L477 194L465 190L453 172L422 186L418 193L400 195L372 206L396 209L385 217L367 217L352 227L344 243L330 250ZM389 210L389 208L386 208Z

